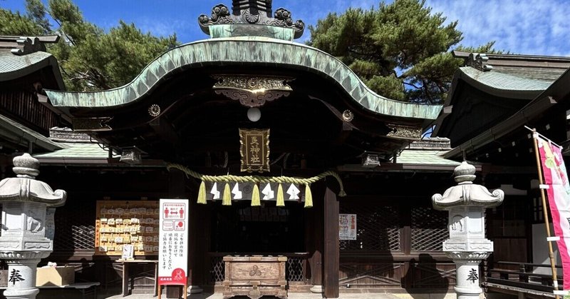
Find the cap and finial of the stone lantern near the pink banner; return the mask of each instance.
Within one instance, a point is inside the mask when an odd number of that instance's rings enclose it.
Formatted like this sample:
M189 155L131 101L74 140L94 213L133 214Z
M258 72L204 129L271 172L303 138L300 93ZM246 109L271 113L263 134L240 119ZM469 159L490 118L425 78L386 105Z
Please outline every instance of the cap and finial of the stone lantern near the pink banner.
M473 183L475 166L463 161L453 173L457 186L448 188L443 195L437 193L432 196L433 208L436 210L448 211L460 206L492 208L502 203L504 199L502 190L497 189L490 193L484 186Z

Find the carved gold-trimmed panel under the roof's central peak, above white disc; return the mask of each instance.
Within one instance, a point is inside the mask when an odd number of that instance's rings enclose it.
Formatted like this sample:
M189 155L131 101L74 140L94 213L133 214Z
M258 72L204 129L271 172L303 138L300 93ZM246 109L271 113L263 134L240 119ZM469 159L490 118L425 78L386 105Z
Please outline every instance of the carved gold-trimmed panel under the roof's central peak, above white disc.
M285 83L293 80L289 77L219 75L214 78L218 81L213 86L217 94L247 107L263 106L266 101L289 96L293 90Z

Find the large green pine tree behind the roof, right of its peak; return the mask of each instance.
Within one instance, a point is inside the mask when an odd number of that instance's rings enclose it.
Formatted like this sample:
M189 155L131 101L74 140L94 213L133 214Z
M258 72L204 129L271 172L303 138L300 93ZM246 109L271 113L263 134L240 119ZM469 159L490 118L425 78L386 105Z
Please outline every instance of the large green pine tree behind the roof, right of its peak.
M338 57L376 93L399 101L442 103L462 60L450 49L493 52L494 42L457 46L457 21L432 14L425 1L380 2L378 9L348 9L309 26L308 44Z

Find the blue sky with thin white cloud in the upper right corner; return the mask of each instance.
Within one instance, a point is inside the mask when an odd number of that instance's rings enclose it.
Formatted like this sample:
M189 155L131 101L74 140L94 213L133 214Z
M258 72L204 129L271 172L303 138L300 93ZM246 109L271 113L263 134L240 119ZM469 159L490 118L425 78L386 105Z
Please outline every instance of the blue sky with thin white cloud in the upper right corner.
M561 0L454 1L427 0L448 21L459 20L462 44L495 41L495 49L514 54L565 56L570 52L570 6Z

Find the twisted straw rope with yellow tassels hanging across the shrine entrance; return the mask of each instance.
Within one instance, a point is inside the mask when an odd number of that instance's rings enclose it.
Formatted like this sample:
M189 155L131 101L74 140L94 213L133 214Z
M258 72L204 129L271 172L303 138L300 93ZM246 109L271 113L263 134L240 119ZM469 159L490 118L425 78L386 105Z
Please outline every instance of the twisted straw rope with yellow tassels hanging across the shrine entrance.
M206 203L206 184L205 182L210 183L225 183L224 186L224 195L222 197L222 205L230 206L232 204L232 194L229 191L229 183L236 182L236 183L254 183L254 190L252 193L252 206L259 206L260 198L259 198L259 187L257 186L258 183L278 183L279 187L277 188L277 206L285 206L285 200L283 195L283 188L281 187L282 183L294 183L298 185L305 185L305 208L310 208L313 206L313 194L311 193L311 183L315 183L316 181L326 178L327 176L332 176L336 178L338 181L338 185L341 186L341 191L338 192L338 196L344 197L346 193L344 192L343 182L341 181L341 177L338 176L338 173L334 171L325 171L318 176L313 176L311 178L292 178L290 176L234 176L234 175L227 175L227 176L207 176L201 173L197 173L196 171L192 171L185 166L175 163L169 163L166 166L167 170L170 169L178 169L183 173L186 173L187 177L192 176L192 178L197 178L202 183L200 183L200 188L198 190L198 203Z

